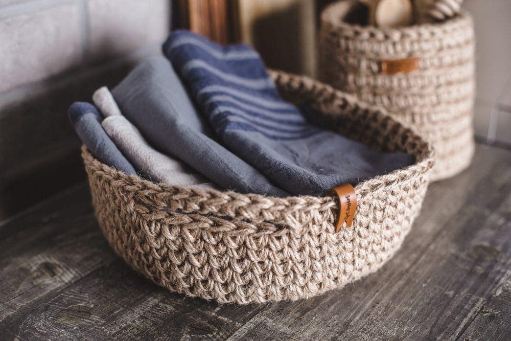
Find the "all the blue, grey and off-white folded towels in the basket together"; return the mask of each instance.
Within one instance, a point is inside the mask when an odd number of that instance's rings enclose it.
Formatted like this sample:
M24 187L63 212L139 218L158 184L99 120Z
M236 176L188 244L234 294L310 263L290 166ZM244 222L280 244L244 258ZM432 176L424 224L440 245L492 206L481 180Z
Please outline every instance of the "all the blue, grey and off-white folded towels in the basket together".
M90 152L126 174L197 189L318 196L414 161L311 123L309 109L280 98L249 46L175 31L163 52L111 93L98 89L95 105L69 108Z

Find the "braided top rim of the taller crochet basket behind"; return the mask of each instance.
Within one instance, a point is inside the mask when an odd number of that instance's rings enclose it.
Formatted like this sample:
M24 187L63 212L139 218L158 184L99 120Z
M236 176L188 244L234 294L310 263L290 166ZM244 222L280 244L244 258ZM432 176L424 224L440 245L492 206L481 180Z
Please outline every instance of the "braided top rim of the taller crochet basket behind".
M375 27L375 26L362 26L360 24L350 24L344 21L341 13L353 3L350 0L341 0L334 2L323 9L320 16L322 25L328 24L332 29L342 29L346 32L356 32L362 35L369 35L376 39L386 40L392 37L395 40L402 39L402 36L417 36L417 32L434 33L436 31L449 31L457 29L461 22L472 20L469 12L461 9L449 20L423 22L421 24L413 24L402 27ZM383 36L381 35L383 33Z

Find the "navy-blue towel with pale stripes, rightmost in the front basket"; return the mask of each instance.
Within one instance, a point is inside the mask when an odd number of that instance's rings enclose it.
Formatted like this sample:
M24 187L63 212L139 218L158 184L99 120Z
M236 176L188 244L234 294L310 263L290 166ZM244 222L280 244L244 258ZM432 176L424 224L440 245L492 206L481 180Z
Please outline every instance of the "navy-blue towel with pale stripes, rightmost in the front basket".
M163 50L223 144L289 193L322 195L413 163L412 155L381 153L308 122L280 98L249 46L176 31Z

